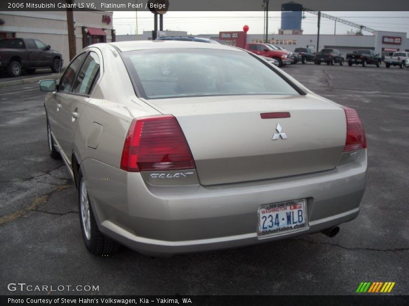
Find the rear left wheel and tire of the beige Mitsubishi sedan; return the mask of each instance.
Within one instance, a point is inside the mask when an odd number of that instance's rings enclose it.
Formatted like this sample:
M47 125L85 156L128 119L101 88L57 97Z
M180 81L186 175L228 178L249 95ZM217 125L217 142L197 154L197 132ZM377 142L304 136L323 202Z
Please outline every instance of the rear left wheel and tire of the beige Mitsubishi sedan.
M98 228L97 221L94 216L92 205L90 204L88 192L85 185L85 180L81 169L78 171L78 208L80 215L80 225L82 238L84 239L85 247L90 253L97 256L109 255L118 251L121 246L115 240L106 237ZM83 201L83 205L81 205ZM85 218L85 222L84 222ZM89 226L85 232L84 227Z

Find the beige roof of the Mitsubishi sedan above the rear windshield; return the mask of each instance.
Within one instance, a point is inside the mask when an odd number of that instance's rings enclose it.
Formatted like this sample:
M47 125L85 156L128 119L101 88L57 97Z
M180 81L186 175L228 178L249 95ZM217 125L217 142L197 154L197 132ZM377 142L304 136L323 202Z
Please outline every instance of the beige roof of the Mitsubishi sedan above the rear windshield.
M121 41L110 42L112 46L117 47L121 52L144 50L144 49L168 49L168 48L199 48L199 49L221 49L237 52L245 52L242 49L215 43L203 43L200 41L180 41L180 40L140 40L140 41Z

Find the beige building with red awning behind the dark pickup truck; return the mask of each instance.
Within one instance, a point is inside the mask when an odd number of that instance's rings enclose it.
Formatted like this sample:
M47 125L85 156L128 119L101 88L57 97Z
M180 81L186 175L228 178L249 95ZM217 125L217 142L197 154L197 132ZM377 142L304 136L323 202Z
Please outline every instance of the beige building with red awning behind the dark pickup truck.
M112 12L75 11L77 53L97 42L115 41ZM60 52L64 66L69 61L66 12L3 12L0 11L0 39L36 38Z

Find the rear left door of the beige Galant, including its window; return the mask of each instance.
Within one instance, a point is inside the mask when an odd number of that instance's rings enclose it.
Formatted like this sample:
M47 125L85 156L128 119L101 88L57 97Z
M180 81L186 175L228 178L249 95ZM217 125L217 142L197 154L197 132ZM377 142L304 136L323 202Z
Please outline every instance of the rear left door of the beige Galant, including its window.
M81 68L76 73L76 78L70 92L64 93L61 99L60 110L60 145L64 151L67 162L71 163L73 151L74 135L78 119L84 109L85 104L90 98L90 93L96 80L99 77L100 57L94 51L90 51Z

